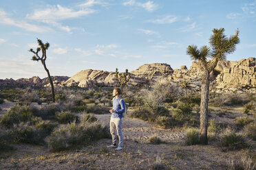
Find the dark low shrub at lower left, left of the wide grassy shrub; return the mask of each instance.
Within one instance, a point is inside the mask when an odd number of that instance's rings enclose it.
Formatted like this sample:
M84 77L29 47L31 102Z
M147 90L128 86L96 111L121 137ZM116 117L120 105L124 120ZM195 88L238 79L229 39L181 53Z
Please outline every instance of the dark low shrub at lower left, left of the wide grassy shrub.
M12 129L6 131L10 136L11 143L28 143L28 144L40 144L43 143L43 136L39 132L36 132L34 128L28 123L15 124Z

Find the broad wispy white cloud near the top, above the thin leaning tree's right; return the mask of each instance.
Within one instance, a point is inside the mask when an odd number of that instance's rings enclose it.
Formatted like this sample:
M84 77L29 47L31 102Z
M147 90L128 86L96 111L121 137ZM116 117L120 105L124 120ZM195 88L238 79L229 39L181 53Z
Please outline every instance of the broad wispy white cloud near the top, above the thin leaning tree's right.
M27 14L27 18L36 21L59 21L63 19L73 19L96 12L91 9L74 11L72 8L65 8L61 5L53 5L45 10L34 10L34 14Z

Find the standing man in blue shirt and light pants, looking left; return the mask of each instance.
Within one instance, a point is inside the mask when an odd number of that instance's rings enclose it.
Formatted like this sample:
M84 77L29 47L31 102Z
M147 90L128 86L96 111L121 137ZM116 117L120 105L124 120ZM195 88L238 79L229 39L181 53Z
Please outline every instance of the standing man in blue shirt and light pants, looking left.
M118 136L119 143L116 148L117 151L121 150L124 145L124 139L122 136L122 113L125 112L125 101L120 97L120 88L114 88L113 90L113 108L109 110L111 112L110 119L110 133L112 136L112 145L107 147L116 147L116 141Z

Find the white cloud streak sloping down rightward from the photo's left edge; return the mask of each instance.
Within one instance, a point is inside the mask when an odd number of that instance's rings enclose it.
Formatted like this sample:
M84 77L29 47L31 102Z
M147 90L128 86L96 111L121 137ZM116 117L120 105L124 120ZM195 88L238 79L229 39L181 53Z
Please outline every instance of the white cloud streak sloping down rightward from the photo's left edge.
M44 27L44 26L38 26L34 24L30 24L26 21L17 21L15 19L11 19L8 17L8 14L6 12L0 10L0 23L5 24L5 25L13 25L15 27L21 27L23 29L26 29L30 32L49 32L52 31L50 27Z

